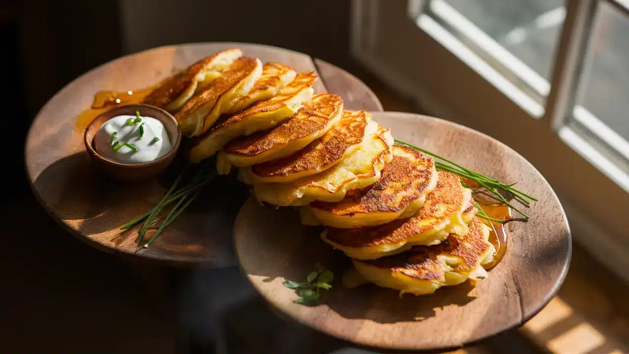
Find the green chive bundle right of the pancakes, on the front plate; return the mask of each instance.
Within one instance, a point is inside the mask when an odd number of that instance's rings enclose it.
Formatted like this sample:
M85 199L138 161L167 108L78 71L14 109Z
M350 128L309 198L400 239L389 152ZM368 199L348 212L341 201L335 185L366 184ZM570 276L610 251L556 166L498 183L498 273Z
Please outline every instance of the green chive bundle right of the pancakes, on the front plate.
M502 183L501 181L496 180L495 178L487 177L484 174L477 173L477 172L472 171L471 169L468 169L468 168L464 168L463 166L460 166L457 163L454 163L454 162L452 162L452 161L450 161L448 159L445 159L444 157L438 156L437 154L435 154L433 152L427 151L425 149L421 149L420 147L416 147L414 145L408 144L408 143L400 141L400 140L395 140L395 142L397 144L401 145L401 146L407 146L407 147L410 147L411 149L415 149L417 151L423 152L426 155L434 157L435 158L435 168L440 169L442 171L448 171L448 172L457 174L458 176L460 176L462 178L466 178L468 180L475 181L476 183L478 183L479 186L482 186L487 191L489 191L489 193L491 193L490 197L498 200L501 203L504 203L509 208L515 210L516 212L520 213L520 215L523 216L523 218L513 218L513 219L507 219L507 220L493 219L493 218L488 217L487 214L485 214L484 212L481 212L482 208L477 203L476 207L479 209L479 216L480 217L482 217L484 219L487 219L487 220L490 220L490 221L495 221L495 222L500 222L500 223L504 223L504 222L508 222L508 221L512 221L512 220L525 221L525 220L528 220L530 218L529 215L526 215L525 212L523 212L519 208L516 208L503 195L503 193L504 193L504 194L508 195L508 197L515 198L519 202L525 204L527 207L530 205L531 201L537 202L536 198L531 197L530 195L528 195L526 193L523 193L522 191L517 190L516 188L513 188L513 186L516 183L512 183L510 185L506 185L506 184ZM467 187L467 185L465 185L464 182L462 182L462 184ZM477 188L470 188L470 189L472 189L472 190L474 190L476 192L481 192ZM489 195L489 193L486 193L486 194Z

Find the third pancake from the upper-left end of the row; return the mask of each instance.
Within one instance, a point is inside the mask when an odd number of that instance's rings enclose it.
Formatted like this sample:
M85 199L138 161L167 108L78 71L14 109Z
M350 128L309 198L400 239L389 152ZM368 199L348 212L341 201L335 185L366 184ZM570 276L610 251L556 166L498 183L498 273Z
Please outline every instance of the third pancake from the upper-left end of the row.
M294 80L295 76L297 76L297 72L287 65L275 62L264 64L262 76L253 84L253 88L246 96L240 96L234 100L231 103L231 108L226 110L225 114L242 111L253 103L275 97L279 89Z

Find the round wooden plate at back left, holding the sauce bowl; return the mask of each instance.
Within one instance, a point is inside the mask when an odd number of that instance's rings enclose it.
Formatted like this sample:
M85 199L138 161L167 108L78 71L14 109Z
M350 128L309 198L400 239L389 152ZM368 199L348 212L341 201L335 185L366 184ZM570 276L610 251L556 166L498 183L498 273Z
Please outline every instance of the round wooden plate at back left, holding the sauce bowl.
M291 50L247 43L197 43L146 50L87 72L43 106L26 140L28 178L48 213L93 246L133 256L136 232L120 232L118 227L150 210L172 176L167 171L161 179L131 186L99 175L83 146L83 130L75 127L77 115L89 108L97 91L145 88L201 57L233 47L262 62L276 61L297 71L317 71L311 57ZM329 79L333 93L348 97L347 109L381 110L376 96L358 79L325 62L318 64L322 69L316 92L325 92ZM233 221L247 197L247 189L235 179L218 178L150 248L136 255L179 265L235 265Z

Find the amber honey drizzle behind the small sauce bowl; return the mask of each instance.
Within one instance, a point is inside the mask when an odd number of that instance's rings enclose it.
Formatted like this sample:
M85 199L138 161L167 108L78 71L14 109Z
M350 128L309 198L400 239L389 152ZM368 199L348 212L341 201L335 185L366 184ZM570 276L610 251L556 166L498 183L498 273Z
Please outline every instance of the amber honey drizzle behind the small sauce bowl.
M77 132L83 132L97 115L118 105L140 103L151 91L153 91L153 87L121 92L98 91L94 94L94 101L90 108L82 111L77 117L77 120L74 122L74 129Z

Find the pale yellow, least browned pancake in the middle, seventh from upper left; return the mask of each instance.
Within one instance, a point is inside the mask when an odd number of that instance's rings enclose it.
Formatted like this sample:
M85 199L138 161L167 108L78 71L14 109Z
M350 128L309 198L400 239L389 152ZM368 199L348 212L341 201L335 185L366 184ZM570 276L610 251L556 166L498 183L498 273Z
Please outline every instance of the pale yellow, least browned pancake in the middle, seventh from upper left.
M360 149L333 168L289 183L253 183L253 193L260 202L274 205L306 205L313 200L338 202L347 191L365 188L380 179L384 165L391 161L393 137L389 129L375 124L375 132L363 140ZM251 183L248 168L240 168L239 178Z

